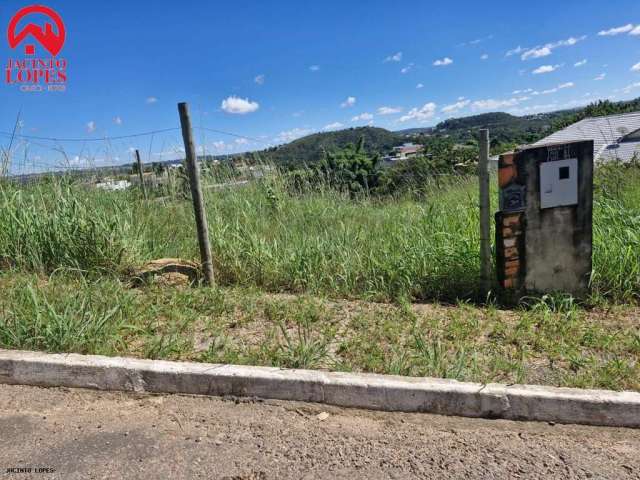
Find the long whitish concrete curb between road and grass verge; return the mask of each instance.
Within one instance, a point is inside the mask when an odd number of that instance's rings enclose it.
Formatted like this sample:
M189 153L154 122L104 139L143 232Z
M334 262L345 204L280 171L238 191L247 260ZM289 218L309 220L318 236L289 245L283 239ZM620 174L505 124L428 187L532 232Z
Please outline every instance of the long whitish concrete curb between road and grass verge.
M0 350L0 383L640 427L640 393Z

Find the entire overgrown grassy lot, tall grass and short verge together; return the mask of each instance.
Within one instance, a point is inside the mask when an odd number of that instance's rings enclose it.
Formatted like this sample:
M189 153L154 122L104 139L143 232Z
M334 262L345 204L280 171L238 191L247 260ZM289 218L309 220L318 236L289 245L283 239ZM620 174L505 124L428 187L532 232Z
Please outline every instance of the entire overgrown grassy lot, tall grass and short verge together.
M592 296L511 310L477 290L476 185L209 189L210 289L129 283L197 259L187 201L3 184L0 347L640 389L640 170L598 172Z

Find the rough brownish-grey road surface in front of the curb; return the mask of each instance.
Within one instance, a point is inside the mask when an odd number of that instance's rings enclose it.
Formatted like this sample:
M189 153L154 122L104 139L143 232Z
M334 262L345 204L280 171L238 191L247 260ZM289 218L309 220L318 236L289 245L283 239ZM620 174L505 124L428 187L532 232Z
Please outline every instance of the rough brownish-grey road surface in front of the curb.
M28 467L55 472L7 472ZM639 479L640 430L0 385L0 469L21 480Z

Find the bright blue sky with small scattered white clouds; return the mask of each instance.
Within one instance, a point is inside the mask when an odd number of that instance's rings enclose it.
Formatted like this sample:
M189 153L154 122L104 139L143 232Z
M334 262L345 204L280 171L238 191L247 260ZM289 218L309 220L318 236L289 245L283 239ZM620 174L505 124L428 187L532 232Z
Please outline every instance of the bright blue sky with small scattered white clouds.
M637 0L42 3L65 24L66 91L24 92L3 77L0 132L19 113L20 135L78 141L17 137L19 173L128 163L136 148L146 161L178 158L182 101L199 151L224 154L318 131L640 96ZM3 0L3 28L30 4ZM24 45L0 44L5 68L25 58Z

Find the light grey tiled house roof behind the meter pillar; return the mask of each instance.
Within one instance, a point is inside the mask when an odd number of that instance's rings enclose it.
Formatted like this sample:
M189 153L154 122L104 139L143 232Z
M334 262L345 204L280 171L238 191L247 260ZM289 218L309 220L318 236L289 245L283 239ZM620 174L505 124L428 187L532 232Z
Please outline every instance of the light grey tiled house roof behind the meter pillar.
M579 140L593 140L596 162L640 160L640 112L585 118L533 145Z

